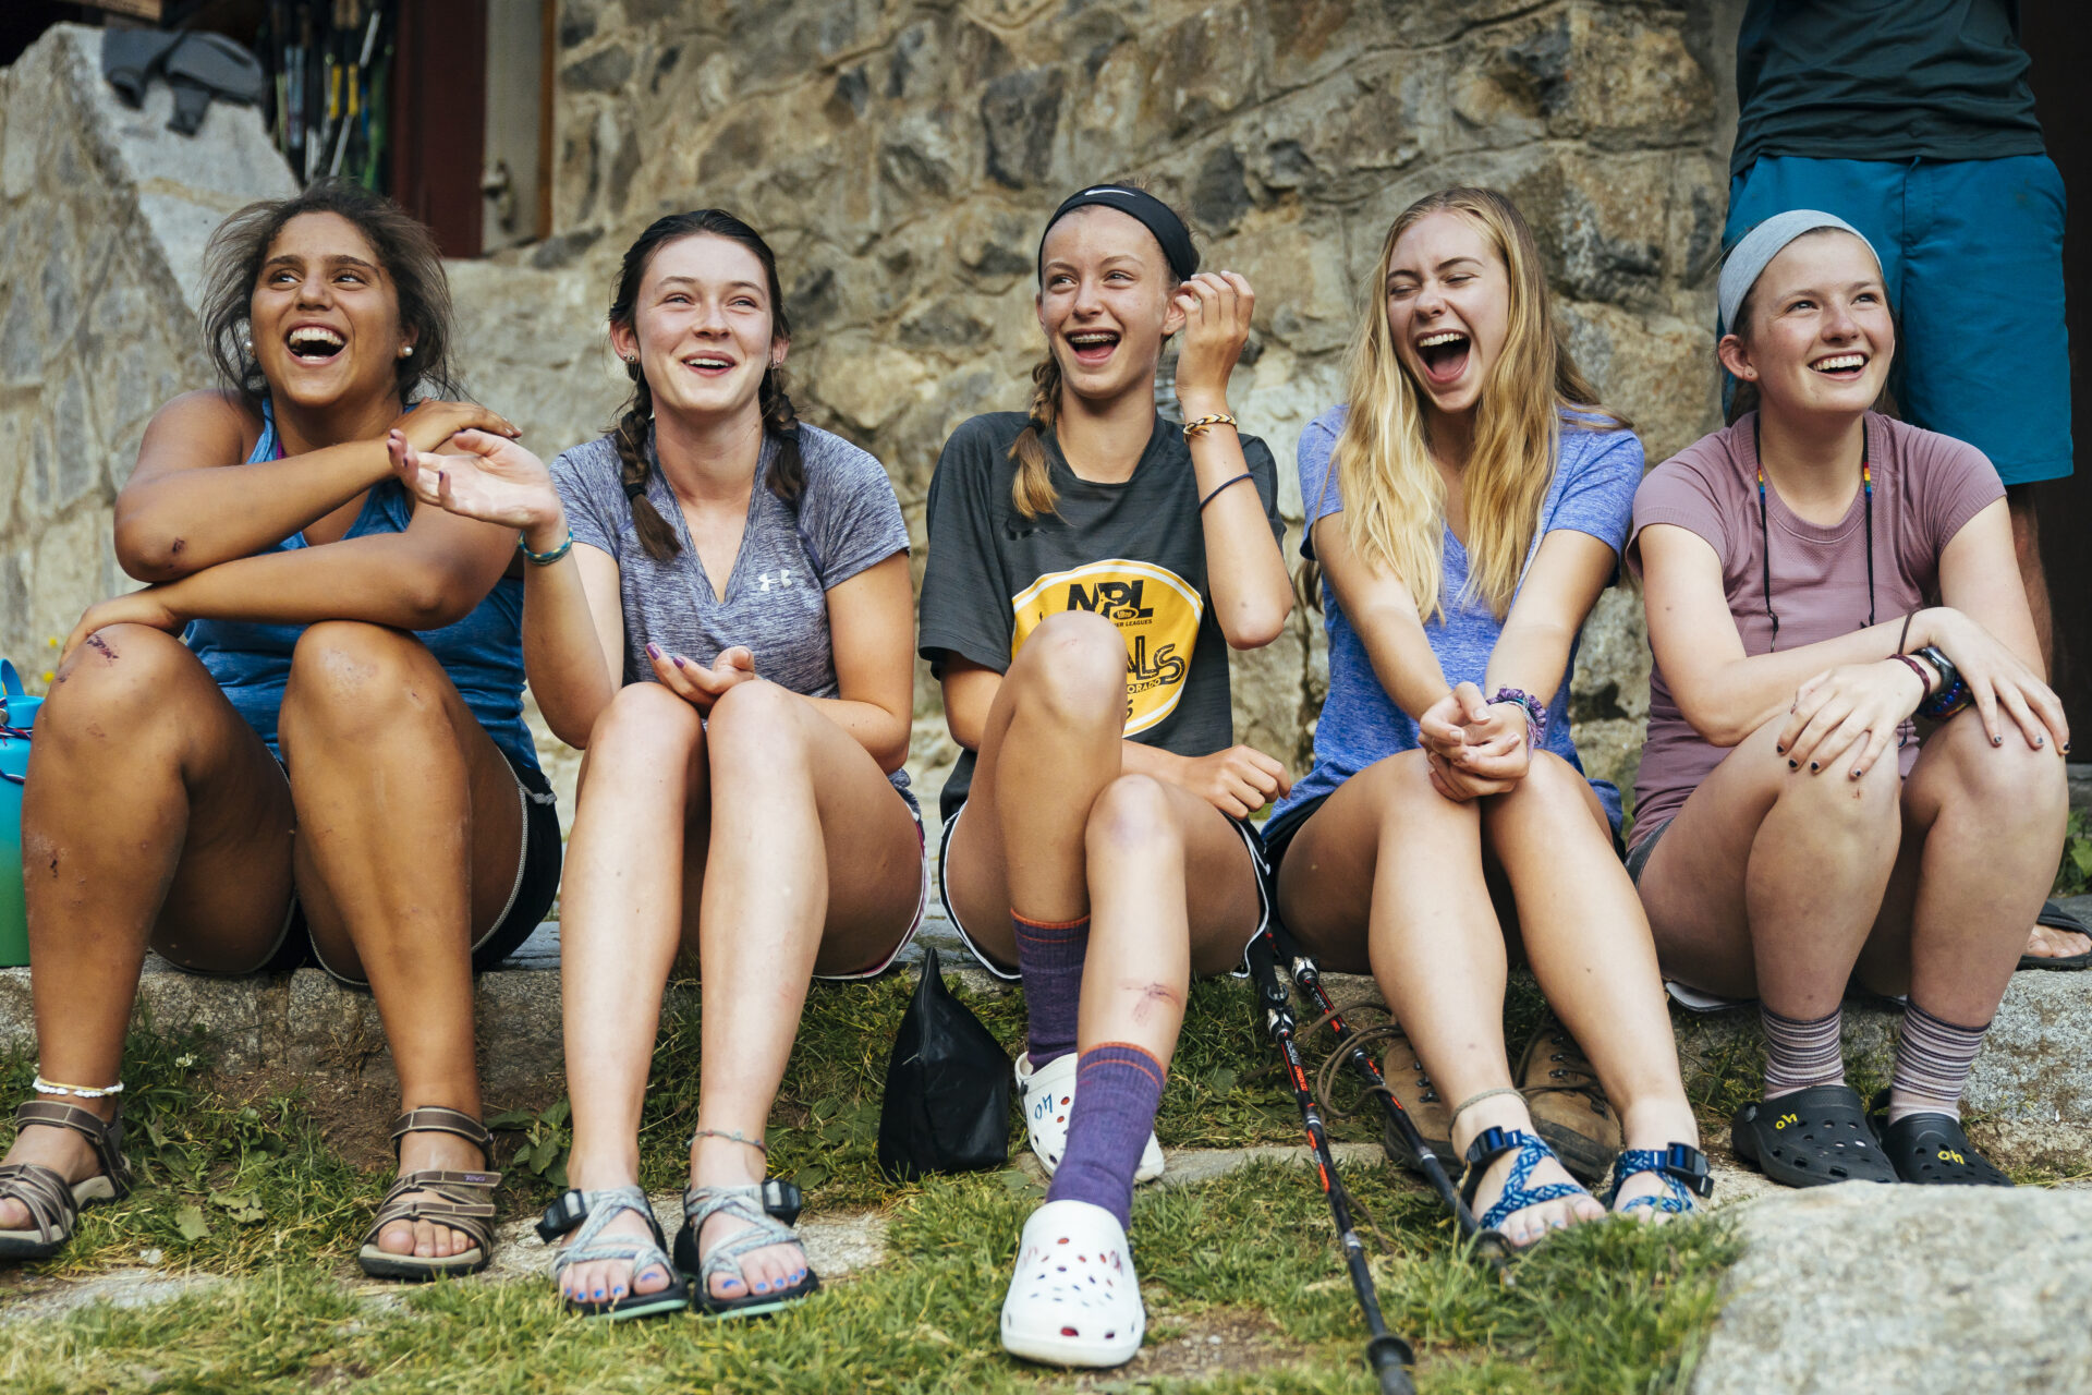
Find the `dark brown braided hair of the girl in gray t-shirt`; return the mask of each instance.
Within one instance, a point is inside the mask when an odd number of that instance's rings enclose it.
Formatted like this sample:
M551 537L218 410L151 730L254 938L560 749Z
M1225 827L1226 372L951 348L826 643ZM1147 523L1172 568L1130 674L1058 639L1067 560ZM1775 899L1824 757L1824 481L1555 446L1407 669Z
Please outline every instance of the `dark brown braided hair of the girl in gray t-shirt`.
M778 284L776 253L770 251L770 243L755 228L726 209L695 209L657 218L626 249L623 266L617 272L617 295L611 299L611 324L628 330L636 328L634 316L646 266L665 245L699 234L724 236L755 253L770 282L770 337L791 339L791 322L784 318L784 291ZM646 481L655 471L653 452L649 450L649 437L653 435L653 389L646 385L646 372L638 360L626 364L626 376L632 379L632 399L611 431L611 439L617 445L619 483L623 483L626 502L632 506L632 529L638 533L640 546L646 548L646 556L661 563L682 552L682 542L678 542L676 529L669 527L667 519L661 517L661 510L653 506L653 500L646 498ZM797 508L799 496L805 494L805 462L799 456L799 414L791 406L782 368L764 368L755 402L764 416L764 433L776 437L778 443L778 454L770 462L770 491Z

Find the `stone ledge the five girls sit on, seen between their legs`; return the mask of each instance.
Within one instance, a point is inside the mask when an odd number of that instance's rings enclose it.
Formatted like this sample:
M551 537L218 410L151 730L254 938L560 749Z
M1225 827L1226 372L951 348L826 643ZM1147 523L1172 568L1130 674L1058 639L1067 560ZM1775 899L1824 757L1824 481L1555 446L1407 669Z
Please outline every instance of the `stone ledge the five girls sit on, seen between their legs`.
M2092 895L2069 901L2092 920ZM935 906L902 956L918 962L937 945L946 977L973 991L1004 985L973 964ZM1370 979L1328 975L1339 1002L1379 1002ZM849 985L820 991L851 991ZM370 993L345 989L318 968L289 975L218 979L182 973L146 956L138 983L140 1012L165 1029L201 1027L218 1044L226 1071L362 1073L389 1083L391 1056ZM1847 1004L1847 1058L1872 1058L1887 1075L1900 1014L1879 1004ZM1678 1052L1688 1079L1711 1069L1757 1033L1751 1008L1674 1010ZM563 1075L559 1021L559 922L548 920L500 968L479 977L477 1031L481 1079L494 1094L544 1092ZM0 1050L33 1050L36 1016L29 970L0 970ZM1998 1006L1996 1025L1969 1081L1969 1106L2021 1123L2092 1125L2092 973L2021 973Z

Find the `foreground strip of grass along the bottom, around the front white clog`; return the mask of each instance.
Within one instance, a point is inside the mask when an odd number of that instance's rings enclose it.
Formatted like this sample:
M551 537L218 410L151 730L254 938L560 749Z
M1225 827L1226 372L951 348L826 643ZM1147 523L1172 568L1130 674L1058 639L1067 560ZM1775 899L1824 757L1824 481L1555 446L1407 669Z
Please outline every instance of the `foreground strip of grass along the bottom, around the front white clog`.
M1720 1221L1565 1232L1513 1284L1464 1259L1435 1205L1381 1167L1347 1180L1400 1253L1374 1261L1425 1391L1655 1391L1699 1351L1736 1244ZM998 1177L939 1180L893 1207L887 1265L766 1324L686 1318L579 1324L550 1284L437 1284L372 1307L278 1267L153 1307L90 1307L0 1326L0 1382L75 1391L1031 1391L1069 1376L996 1345L996 1309L1033 1196ZM1312 1175L1245 1167L1149 1190L1134 1244L1157 1341L1255 1320L1226 1374L1107 1372L1102 1389L1366 1391L1362 1328ZM1247 1370L1245 1366L1253 1366Z

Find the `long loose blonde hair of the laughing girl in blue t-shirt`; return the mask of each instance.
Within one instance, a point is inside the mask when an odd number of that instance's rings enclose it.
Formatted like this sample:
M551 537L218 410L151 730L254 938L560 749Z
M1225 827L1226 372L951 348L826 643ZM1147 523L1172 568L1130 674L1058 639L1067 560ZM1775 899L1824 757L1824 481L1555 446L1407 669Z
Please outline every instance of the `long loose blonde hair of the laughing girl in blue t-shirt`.
M1479 596L1502 619L1525 573L1540 506L1554 483L1563 410L1598 416L1607 431L1625 431L1630 422L1598 406L1598 395L1563 345L1540 270L1540 247L1517 205L1494 188L1446 188L1418 199L1387 230L1366 287L1366 314L1345 360L1349 412L1337 435L1335 475L1351 550L1400 577L1416 598L1418 615L1446 617L1439 594L1446 481L1425 441L1423 399L1395 356L1387 326L1387 266L1395 245L1441 211L1473 222L1510 280L1510 326L1475 402L1464 471L1471 565L1462 596Z

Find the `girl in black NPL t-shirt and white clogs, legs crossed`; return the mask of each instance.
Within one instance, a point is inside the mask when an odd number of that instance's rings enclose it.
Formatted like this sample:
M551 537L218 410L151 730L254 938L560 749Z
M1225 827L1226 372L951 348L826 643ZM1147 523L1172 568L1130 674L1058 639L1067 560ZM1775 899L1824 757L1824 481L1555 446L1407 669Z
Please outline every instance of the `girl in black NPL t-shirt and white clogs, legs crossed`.
M1197 268L1184 222L1140 188L1063 203L1040 243L1031 412L962 425L929 491L918 642L964 747L943 899L992 973L1023 977L1017 1079L1054 1175L1002 1345L1065 1366L1140 1349L1132 1184L1161 1171L1151 1127L1190 975L1234 966L1264 924L1243 820L1291 786L1232 742L1222 648L1272 642L1293 607L1272 456L1226 402L1253 297ZM1178 330L1184 427L1155 414Z

